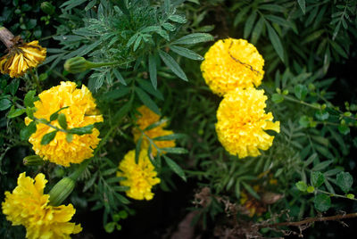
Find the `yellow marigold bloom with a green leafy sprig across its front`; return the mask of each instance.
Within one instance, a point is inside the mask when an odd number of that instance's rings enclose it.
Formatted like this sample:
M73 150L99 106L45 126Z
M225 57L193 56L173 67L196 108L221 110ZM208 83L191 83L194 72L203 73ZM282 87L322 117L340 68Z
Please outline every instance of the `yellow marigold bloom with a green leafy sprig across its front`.
M81 89L76 88L74 82L61 82L60 86L52 87L38 95L39 101L35 102L37 111L34 116L37 119L50 120L51 114L63 107L69 107L60 111L66 116L68 128L85 127L95 122L103 121L103 116L98 115L95 109L95 99L86 86ZM25 119L29 124L30 119ZM56 120L52 125L60 128ZM66 140L66 133L57 132L54 140L49 144L42 145L42 137L47 133L54 131L45 124L37 124L37 130L29 137L29 143L33 145L32 149L44 160L54 163L70 166L70 163L80 163L93 156L93 150L99 143L99 131L94 128L92 134L83 136L73 135L71 143Z

